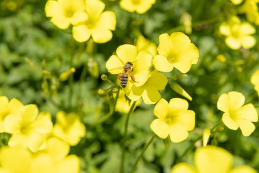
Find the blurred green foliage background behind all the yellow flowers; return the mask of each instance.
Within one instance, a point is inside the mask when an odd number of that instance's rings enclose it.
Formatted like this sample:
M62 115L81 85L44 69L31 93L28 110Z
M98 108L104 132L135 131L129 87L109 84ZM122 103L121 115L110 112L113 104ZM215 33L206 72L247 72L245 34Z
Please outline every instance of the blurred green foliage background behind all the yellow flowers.
M219 96L231 90L242 92L246 103L253 103L259 111L259 99L250 77L259 69L257 44L250 50L231 50L219 34L219 24L235 6L229 0L156 0L143 15L120 8L118 0L104 0L106 9L116 14L116 30L110 42L104 44L76 43L71 28L60 30L45 17L46 0L0 0L0 95L16 97L23 104L37 104L40 111L50 112L55 121L58 111L76 112L86 126L86 136L72 147L71 153L81 160L81 173L118 173L121 138L125 114L115 112L102 124L95 122L109 111L107 97L99 95L99 88L111 84L100 76L108 74L105 63L116 48L134 43L139 33L158 45L162 33L185 32L181 23L184 13L192 17L190 40L198 47L200 57L187 78L174 81L193 98L189 109L196 113L196 126L184 142L175 144L155 138L148 148L136 173L169 173L172 166L185 161L192 163L193 141L205 128L219 122L222 112L217 110ZM245 16L240 16L246 20ZM258 29L258 26L254 26ZM222 62L217 58L225 56ZM75 67L68 81L60 82L59 75ZM81 74L85 75L81 75ZM167 77L180 74L174 69ZM73 80L73 82L71 82ZM163 98L181 97L168 85L161 91ZM154 105L142 103L130 117L129 140L126 144L126 166L130 170L145 143L152 136L149 128ZM258 128L259 123L256 123ZM243 137L240 130L224 129L215 134L210 143L217 144L234 155L234 166L249 165L259 171L259 131ZM193 147L189 147L193 146ZM181 155L189 148L183 158Z

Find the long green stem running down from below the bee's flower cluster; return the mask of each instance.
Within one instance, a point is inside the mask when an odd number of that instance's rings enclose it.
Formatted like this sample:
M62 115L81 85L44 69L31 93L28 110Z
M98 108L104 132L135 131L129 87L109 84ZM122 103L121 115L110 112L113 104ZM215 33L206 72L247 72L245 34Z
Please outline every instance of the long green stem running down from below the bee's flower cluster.
M135 107L136 101L133 102L133 104L130 107L130 110L126 117L125 122L125 128L124 128L124 134L122 139L122 154L121 154L121 163L120 163L120 173L124 173L124 162L125 162L125 152L126 152L126 139L127 139L127 132L128 132L128 124L129 124L129 117L131 112L133 111Z

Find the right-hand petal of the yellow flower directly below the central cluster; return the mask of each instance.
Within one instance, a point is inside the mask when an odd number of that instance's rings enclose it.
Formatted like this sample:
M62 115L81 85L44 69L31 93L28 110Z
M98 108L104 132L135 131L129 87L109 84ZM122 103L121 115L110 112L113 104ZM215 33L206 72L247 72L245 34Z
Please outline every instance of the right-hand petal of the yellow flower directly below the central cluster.
M187 110L184 114L179 116L177 123L181 125L185 130L193 130L195 127L195 112Z

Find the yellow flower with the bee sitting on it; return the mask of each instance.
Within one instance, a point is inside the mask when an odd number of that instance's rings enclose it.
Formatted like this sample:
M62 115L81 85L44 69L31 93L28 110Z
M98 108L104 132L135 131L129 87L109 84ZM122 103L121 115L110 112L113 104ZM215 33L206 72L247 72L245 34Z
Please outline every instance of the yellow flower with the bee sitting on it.
M111 74L124 73L123 67L127 62L133 64L134 71L130 73L135 77L135 81L129 80L125 87L125 91L129 91L129 84L136 87L143 86L149 75L149 67L151 66L152 55L145 50L137 52L137 47L131 44L120 45L116 50L117 55L111 55L111 57L106 62L106 68ZM132 86L131 85L131 86Z

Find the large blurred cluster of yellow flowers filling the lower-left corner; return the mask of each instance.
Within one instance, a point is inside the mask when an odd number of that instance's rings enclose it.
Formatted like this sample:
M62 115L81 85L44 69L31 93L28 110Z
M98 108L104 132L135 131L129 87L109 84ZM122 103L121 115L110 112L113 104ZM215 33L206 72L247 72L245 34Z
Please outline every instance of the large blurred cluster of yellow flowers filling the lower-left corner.
M0 96L0 132L11 134L0 149L1 173L78 173L79 158L68 155L70 146L85 135L79 117L57 113L53 126L49 113L39 113L35 104L23 105Z

